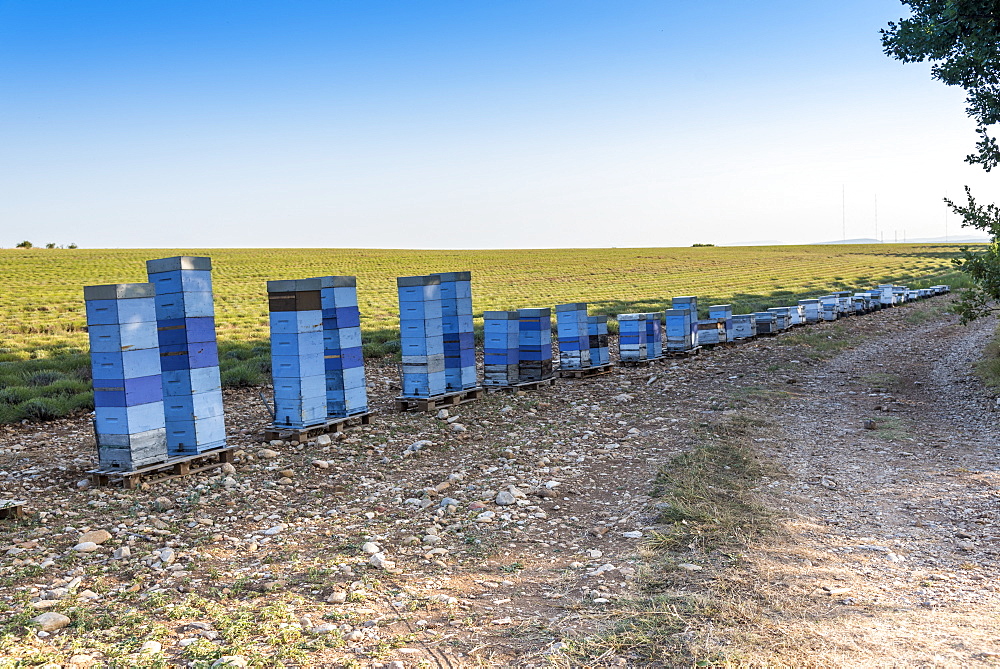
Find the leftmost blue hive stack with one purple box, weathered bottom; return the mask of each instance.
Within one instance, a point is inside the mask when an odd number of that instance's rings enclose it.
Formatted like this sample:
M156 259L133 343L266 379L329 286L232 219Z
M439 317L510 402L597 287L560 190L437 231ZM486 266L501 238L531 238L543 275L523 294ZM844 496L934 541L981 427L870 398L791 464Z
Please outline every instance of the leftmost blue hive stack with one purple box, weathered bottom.
M154 294L148 283L83 289L101 469L131 471L168 457Z

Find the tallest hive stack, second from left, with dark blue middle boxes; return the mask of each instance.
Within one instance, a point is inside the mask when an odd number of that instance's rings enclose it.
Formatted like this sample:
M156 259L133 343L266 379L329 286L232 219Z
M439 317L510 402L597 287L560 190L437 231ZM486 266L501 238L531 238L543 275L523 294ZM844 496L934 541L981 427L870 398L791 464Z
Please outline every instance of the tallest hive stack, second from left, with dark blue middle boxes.
M212 303L212 259L191 256L146 262L156 286L167 449L171 456L226 445L219 349Z

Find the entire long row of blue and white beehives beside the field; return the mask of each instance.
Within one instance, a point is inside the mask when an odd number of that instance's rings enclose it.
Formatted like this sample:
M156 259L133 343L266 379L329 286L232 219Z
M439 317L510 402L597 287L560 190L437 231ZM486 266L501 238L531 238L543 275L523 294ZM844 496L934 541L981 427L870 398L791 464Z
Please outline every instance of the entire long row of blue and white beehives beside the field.
M84 292L102 468L129 469L225 445L211 260L167 258L149 261L147 269L148 284ZM478 388L470 273L401 277L397 285L403 396ZM267 288L274 427L309 428L366 413L355 278L270 281ZM656 359L664 351L776 333L947 291L886 285L755 314L734 315L729 305L715 305L707 320L698 320L696 298L674 298L666 312L618 315L620 358ZM590 316L584 303L555 311L559 368L608 365L607 316ZM483 316L483 385L553 376L549 309Z

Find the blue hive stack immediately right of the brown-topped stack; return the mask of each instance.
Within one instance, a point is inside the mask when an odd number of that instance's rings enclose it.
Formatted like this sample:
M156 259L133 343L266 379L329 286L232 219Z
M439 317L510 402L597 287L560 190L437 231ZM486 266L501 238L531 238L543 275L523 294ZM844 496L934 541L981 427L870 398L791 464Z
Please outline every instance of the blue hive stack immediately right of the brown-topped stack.
M361 348L358 282L353 276L321 276L323 367L327 418L368 412L365 360Z

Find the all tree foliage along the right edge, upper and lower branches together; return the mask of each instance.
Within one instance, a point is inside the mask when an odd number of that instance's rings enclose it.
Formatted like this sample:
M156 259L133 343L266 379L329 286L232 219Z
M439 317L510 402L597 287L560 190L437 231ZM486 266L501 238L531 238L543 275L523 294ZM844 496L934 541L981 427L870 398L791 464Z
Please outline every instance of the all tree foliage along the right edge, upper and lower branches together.
M966 156L971 165L987 172L1000 165L1000 146L989 134L1000 123L1000 0L902 0L911 16L890 22L883 29L882 46L887 56L904 63L931 63L931 76L966 92L965 111L976 122L979 141L976 152ZM1000 300L1000 208L981 205L965 187L968 202L945 204L962 217L963 227L990 234L986 251L962 249L955 261L975 286L963 292L958 311L963 322L990 311Z

